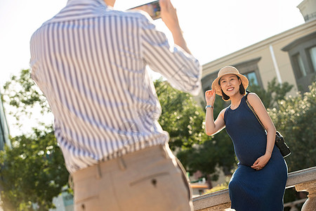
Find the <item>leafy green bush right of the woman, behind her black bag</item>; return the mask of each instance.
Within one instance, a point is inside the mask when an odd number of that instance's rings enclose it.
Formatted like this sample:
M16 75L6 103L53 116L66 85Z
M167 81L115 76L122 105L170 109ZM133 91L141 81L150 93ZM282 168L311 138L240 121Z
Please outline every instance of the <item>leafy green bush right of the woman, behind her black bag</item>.
M279 101L269 114L291 149L289 172L316 165L316 82L310 91Z

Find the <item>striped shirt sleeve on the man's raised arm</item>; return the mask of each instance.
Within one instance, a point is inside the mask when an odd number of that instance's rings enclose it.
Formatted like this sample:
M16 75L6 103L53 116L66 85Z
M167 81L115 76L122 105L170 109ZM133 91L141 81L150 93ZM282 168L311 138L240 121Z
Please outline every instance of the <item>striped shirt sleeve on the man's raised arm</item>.
M199 61L180 46L174 45L171 49L166 35L145 17L141 32L143 57L147 65L166 77L172 87L192 95L199 94L202 73Z

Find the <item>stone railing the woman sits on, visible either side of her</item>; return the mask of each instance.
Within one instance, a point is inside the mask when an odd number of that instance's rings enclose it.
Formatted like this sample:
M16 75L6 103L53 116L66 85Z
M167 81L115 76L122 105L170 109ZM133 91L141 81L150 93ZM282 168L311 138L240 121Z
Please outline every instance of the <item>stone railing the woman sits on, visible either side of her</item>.
M302 211L316 210L316 167L291 172L287 178L287 188L294 187L296 191L308 192L308 200L305 201ZM228 189L216 191L193 198L195 210L211 211L230 208L230 196Z

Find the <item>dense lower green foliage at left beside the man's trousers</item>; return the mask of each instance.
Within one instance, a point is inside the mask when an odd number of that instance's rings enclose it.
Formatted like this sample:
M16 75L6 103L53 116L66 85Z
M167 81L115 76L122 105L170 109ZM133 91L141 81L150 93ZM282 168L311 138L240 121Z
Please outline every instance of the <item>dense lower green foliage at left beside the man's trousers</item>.
M13 148L0 152L4 210L32 210L32 203L48 210L68 181L52 129L34 129L32 136L16 136L11 141Z

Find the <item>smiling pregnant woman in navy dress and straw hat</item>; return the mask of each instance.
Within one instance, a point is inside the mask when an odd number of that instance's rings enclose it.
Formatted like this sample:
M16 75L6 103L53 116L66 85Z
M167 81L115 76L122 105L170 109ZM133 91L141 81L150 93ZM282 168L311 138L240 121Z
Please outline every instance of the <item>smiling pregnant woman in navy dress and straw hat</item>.
M220 69L212 89L205 92L206 134L211 136L225 127L234 144L239 163L228 186L232 209L282 211L287 164L275 146L275 126L261 99L254 93L247 96L266 132L246 104L244 96L248 84L248 79L236 68ZM214 121L216 94L230 101L230 106Z

